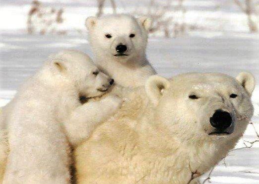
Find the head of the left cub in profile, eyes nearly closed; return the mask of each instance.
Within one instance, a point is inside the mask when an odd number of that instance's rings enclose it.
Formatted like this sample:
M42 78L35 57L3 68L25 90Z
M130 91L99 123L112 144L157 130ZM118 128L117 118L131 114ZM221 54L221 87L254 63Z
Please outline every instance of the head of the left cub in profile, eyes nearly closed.
M85 97L100 96L114 83L114 80L102 73L86 54L65 50L54 56L48 63L53 74L63 84L72 84L79 95ZM64 82L65 81L65 82Z

